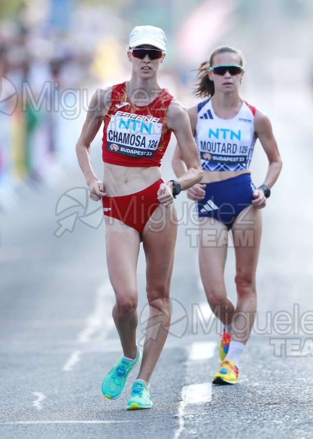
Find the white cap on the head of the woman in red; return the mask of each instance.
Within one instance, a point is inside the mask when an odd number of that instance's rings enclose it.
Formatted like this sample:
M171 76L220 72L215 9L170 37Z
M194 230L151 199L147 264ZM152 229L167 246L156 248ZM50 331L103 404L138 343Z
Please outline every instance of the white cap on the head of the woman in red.
M165 52L166 36L159 27L136 26L129 36L129 46L137 47L141 44L151 44Z

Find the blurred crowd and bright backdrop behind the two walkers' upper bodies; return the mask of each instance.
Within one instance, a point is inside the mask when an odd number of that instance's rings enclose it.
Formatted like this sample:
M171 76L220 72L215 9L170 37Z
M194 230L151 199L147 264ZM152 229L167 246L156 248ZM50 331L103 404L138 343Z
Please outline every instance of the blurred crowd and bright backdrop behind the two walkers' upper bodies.
M186 106L199 64L228 44L247 60L248 100L312 108L311 0L0 0L0 210L78 166L92 93L129 78L128 36L143 24L165 31L159 82Z

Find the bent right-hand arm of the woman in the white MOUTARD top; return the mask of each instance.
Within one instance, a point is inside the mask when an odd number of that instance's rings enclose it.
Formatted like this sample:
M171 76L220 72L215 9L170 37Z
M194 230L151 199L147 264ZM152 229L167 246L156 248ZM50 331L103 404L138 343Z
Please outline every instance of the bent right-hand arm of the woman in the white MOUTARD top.
M279 155L276 140L274 138L272 124L267 116L261 111L257 110L254 118L254 129L257 137L269 160L268 171L264 180L264 184L271 188L278 179L282 168L282 160ZM252 203L257 208L265 206L265 197L262 189L254 191L254 200Z

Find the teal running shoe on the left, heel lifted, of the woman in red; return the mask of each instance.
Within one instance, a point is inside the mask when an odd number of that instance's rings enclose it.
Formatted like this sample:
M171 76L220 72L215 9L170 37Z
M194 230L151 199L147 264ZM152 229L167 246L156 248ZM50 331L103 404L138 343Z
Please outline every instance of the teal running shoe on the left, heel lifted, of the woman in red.
M125 388L126 381L130 371L140 362L141 351L136 345L137 356L132 362L127 361L125 357L121 357L112 367L110 372L106 374L102 382L102 394L105 398L116 399Z

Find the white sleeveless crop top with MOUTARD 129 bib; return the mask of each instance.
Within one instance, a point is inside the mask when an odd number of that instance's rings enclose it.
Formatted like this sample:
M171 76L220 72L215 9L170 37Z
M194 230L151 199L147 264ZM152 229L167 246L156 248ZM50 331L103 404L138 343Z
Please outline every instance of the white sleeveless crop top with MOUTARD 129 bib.
M207 171L241 171L249 169L254 144L256 108L243 101L233 119L219 119L211 99L198 104L196 144L202 169Z

